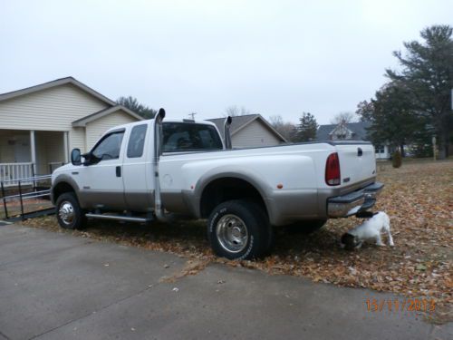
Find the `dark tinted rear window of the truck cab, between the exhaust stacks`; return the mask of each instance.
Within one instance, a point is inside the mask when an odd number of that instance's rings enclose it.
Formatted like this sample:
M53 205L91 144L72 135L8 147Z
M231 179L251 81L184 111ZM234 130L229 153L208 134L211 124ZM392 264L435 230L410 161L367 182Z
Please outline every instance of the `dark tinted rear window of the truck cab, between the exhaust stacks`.
M212 125L164 122L164 152L222 150L222 141Z

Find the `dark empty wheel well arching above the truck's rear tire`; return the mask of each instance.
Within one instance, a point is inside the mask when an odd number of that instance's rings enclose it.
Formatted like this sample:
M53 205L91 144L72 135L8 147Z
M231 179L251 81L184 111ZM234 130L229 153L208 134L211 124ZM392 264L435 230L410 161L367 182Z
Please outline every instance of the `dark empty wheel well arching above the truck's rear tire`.
M207 218L211 211L220 203L231 199L248 199L257 203L267 214L265 201L260 192L246 180L232 177L213 180L210 182L200 200L200 214L202 218Z

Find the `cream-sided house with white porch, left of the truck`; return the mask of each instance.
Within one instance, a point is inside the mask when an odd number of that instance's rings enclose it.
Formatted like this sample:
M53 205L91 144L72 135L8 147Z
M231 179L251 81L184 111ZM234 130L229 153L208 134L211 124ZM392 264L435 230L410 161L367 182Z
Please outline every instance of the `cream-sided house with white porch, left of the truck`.
M72 77L0 94L0 180L50 173L73 148L141 119Z

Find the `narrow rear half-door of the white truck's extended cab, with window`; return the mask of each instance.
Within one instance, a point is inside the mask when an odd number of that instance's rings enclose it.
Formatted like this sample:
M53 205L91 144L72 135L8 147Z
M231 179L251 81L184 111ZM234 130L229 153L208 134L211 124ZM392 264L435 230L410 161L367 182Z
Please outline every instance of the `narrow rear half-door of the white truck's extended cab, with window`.
M137 123L130 129L122 170L124 198L132 211L146 212L153 208L151 135L148 123Z

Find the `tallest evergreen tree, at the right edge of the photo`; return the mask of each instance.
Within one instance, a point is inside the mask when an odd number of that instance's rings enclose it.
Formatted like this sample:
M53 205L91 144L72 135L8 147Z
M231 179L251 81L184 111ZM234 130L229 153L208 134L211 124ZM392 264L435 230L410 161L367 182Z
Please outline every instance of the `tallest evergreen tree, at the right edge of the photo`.
M453 136L453 28L433 25L421 31L423 43L404 43L406 54L395 52L402 70L387 70L392 82L399 82L412 94L412 103L419 117L429 121L432 133L438 136L439 156L448 155Z

